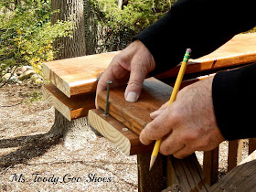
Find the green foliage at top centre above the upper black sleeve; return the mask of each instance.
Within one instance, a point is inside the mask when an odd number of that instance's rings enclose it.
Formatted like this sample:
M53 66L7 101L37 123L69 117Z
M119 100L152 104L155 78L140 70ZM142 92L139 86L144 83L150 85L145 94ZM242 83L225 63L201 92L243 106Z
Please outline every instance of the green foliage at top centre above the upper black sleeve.
M103 25L114 32L133 30L138 33L153 24L170 9L176 0L129 0L123 7L118 7L116 0L91 0L101 10Z

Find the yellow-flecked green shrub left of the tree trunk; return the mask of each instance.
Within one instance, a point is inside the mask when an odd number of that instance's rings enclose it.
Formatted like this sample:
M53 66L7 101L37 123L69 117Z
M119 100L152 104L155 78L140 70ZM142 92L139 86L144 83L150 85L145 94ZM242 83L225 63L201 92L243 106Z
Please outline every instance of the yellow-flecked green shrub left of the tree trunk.
M57 37L72 37L74 24L58 21L52 26L48 0L12 1L0 4L0 69L31 65L39 72L42 62L58 51L51 43Z

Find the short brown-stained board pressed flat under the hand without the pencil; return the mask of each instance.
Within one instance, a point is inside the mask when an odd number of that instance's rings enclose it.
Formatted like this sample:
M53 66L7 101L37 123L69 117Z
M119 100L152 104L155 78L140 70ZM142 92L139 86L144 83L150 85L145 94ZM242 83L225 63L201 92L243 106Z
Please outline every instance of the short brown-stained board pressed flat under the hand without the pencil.
M125 101L124 90L125 87L111 89L108 112L134 133L140 134L152 121L149 114L169 100L172 87L155 78L144 80L143 91L136 102ZM106 91L98 94L97 102L101 109L105 109Z

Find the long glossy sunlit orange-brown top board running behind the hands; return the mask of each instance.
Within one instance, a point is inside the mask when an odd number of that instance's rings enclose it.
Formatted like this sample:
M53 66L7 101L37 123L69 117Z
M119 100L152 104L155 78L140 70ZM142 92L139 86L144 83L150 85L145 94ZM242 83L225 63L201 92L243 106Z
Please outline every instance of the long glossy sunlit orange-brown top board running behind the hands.
M108 67L116 52L61 59L43 64L48 80L68 97L95 91L100 74ZM213 53L200 59L190 59L186 74L203 70L221 69L256 61L256 33L240 34ZM158 75L158 79L176 77L179 66Z

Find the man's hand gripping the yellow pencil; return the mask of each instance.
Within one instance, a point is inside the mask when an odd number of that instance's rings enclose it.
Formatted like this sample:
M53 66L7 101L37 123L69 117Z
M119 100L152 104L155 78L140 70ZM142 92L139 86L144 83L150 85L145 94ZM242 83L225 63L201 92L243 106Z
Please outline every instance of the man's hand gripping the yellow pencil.
M209 151L224 141L212 103L212 80L198 81L178 92L170 107L165 103L150 116L140 134L143 144L163 138L160 153L184 158L195 151Z

